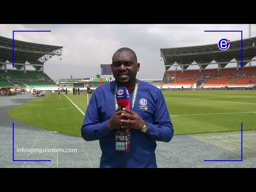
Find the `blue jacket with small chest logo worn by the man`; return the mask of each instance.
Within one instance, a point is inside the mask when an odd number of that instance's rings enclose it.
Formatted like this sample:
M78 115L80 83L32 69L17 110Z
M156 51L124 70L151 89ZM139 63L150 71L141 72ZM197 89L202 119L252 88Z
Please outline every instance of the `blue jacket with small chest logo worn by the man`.
M138 83L134 112L148 123L148 132L130 129L130 151L126 152L127 165L128 168L157 168L156 141L170 142L174 129L161 90L147 82L138 80ZM134 88L128 90L132 109ZM81 128L84 140L100 142L100 168L126 167L125 152L116 151L115 148L117 130L110 131L107 127L108 120L115 112L115 96L115 81L96 88L90 98ZM146 104L140 102L141 99L146 99Z

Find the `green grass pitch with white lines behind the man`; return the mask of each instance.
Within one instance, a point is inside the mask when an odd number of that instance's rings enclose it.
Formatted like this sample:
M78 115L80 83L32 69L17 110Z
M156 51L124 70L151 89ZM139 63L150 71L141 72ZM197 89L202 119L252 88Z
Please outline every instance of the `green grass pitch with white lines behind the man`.
M243 130L256 128L254 90L184 90L163 94L176 135L241 131L241 123ZM91 94L88 96L90 100ZM8 114L31 126L81 136L86 108L87 93L51 93L16 106Z

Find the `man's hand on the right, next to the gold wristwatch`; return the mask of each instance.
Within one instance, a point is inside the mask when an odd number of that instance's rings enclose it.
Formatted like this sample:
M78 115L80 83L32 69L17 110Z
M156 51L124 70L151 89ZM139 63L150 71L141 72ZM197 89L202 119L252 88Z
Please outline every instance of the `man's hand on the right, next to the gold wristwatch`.
M120 120L122 124L126 124L122 126L121 128L134 128L137 130L142 130L142 127L145 125L144 120L138 115L138 113L127 109L123 108L124 111L126 111L128 114L122 113L122 119ZM129 120L127 120L129 119Z

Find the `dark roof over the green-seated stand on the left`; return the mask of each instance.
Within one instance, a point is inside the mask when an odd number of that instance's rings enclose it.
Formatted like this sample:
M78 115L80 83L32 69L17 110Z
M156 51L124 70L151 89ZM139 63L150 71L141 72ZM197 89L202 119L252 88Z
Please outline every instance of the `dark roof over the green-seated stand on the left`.
M0 62L12 63L12 39L0 36ZM62 55L63 46L53 46L14 40L14 63L44 64L54 55Z

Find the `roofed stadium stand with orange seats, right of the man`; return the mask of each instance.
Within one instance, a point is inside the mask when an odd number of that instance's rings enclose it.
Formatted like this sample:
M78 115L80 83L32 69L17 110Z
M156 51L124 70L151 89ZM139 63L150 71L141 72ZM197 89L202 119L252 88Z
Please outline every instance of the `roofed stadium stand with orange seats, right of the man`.
M250 66L256 58L256 37L243 39L243 44L241 40L230 42L230 48L225 51L216 45L161 48L161 60L166 68L162 88L256 87L256 67ZM230 63L236 67L226 68ZM216 69L206 69L212 64L217 65ZM198 66L199 70L187 70L190 65ZM176 70L169 70L173 67Z

